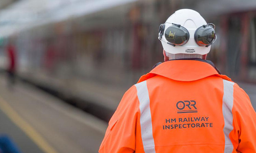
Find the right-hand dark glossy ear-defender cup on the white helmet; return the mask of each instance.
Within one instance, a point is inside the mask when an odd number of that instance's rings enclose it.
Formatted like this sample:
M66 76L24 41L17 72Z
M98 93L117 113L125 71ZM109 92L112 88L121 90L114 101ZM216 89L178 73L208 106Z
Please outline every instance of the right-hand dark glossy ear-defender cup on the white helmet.
M200 27L195 32L195 40L199 46L211 45L216 40L216 33L212 26Z

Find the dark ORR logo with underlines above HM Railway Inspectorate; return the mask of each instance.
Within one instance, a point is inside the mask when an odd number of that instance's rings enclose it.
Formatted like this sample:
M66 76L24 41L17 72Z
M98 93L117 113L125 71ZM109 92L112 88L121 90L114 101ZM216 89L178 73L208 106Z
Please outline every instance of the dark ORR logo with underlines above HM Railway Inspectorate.
M178 101L176 107L178 109L177 113L197 113L195 100Z

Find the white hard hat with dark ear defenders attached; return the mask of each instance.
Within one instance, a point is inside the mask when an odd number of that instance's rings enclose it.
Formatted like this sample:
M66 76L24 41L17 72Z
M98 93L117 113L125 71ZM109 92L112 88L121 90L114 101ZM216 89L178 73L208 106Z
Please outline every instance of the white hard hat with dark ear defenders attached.
M217 38L214 28L198 12L182 9L161 24L158 38L167 53L204 55L210 52L210 45Z

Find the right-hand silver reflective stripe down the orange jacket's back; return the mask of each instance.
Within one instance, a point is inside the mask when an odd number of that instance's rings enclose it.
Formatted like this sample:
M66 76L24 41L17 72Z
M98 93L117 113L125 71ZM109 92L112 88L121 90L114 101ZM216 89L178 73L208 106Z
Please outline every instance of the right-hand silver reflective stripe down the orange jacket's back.
M233 130L233 82L223 80L223 102L222 113L224 117L224 135L225 135L225 149L224 153L232 153L233 145L229 138L229 133Z

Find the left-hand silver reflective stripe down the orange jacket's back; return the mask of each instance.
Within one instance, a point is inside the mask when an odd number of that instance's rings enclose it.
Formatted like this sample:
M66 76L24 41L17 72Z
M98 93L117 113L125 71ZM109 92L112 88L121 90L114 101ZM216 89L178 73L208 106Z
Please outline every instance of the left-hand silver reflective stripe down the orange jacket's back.
M145 153L155 153L147 82L143 81L135 86L137 88L138 99L140 102L140 126L143 148Z

